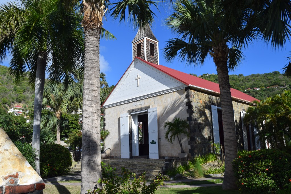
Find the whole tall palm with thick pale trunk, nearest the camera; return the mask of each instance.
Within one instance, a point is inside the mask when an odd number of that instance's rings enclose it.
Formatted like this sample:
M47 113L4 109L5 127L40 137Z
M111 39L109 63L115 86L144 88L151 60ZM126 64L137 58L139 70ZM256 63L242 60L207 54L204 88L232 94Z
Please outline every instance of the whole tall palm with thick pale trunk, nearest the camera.
M81 193L86 193L101 175L100 153L100 63L99 45L102 21L107 12L108 0L83 0L82 26L85 34L84 92L83 92L83 134ZM137 3L137 4L136 4ZM152 1L118 1L112 12L113 17L125 20L125 11L135 26L143 26L153 21L149 5Z

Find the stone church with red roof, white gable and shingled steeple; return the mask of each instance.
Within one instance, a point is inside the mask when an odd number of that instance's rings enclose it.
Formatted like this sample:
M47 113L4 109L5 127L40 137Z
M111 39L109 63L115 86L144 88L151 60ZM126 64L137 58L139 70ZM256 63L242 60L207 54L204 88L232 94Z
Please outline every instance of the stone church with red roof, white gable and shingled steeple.
M132 41L133 61L102 108L106 147L113 158L165 159L178 157L180 145L164 138L164 122L186 119L190 138L182 136L187 156L212 152L211 143L223 145L219 85L159 64L158 40L150 27L139 29ZM253 100L231 88L237 146L256 149L256 129L244 126L244 111ZM187 157L186 156L186 157Z

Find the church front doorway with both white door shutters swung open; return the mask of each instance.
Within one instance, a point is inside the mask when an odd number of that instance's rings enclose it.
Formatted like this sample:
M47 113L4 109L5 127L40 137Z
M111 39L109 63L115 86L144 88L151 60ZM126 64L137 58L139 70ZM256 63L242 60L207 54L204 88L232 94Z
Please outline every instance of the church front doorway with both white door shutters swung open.
M120 148L121 158L159 159L156 107L120 115Z

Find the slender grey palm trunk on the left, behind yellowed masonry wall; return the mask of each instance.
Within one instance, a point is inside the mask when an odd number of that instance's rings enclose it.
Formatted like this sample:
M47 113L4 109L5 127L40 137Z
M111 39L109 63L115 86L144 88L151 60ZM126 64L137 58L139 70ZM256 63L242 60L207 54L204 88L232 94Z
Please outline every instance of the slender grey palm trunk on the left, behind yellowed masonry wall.
M40 150L40 119L42 109L42 94L45 86L45 67L47 62L47 53L41 51L38 54L36 64L36 81L35 81L35 97L34 97L34 115L33 115L33 133L32 133L32 147L36 149L36 172L40 175L39 167L39 150Z

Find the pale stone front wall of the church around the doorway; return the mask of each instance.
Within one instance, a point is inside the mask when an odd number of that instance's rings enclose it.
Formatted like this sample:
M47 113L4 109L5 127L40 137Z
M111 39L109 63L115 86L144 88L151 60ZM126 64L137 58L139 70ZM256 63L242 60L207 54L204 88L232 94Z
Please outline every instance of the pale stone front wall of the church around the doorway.
M104 111L104 128L110 131L106 139L106 147L111 148L112 156L120 158L120 114L131 111L144 110L157 107L158 115L158 138L159 138L159 157L178 156L180 145L175 139L174 143L167 142L164 138L164 122L173 120L175 117L187 119L186 91L184 89L171 93L166 93L139 101L134 101L118 106L106 108ZM175 110L173 112L172 110ZM131 118L129 118L131 120ZM131 129L131 126L129 126ZM131 130L129 130L131 131ZM182 136L182 144L185 152L189 150L187 137Z

